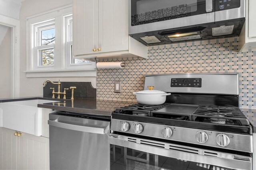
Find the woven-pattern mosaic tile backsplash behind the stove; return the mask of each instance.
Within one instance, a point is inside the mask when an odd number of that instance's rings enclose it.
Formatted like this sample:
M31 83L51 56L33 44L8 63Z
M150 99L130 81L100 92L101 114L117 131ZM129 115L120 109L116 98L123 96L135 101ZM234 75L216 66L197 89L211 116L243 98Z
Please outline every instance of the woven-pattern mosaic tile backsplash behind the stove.
M238 72L240 107L256 109L256 50L237 53L238 38L192 41L148 47L148 59L103 59L126 63L121 69L97 70L97 99L136 101L146 74ZM122 92L114 93L114 81Z

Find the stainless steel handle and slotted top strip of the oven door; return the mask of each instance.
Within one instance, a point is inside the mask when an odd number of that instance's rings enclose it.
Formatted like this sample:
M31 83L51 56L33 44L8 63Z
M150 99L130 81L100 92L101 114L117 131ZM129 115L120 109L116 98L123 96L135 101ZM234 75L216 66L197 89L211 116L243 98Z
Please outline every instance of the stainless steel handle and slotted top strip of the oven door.
M236 170L251 170L252 158L236 154L187 147L160 141L140 139L123 135L110 134L108 142L112 145L127 147L169 158L187 160L203 164L223 166Z

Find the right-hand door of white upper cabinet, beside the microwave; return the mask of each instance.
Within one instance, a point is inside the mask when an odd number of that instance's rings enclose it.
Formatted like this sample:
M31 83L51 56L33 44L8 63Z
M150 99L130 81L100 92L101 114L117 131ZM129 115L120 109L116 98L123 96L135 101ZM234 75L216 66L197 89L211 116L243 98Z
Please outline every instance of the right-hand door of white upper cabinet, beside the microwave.
M128 40L128 0L99 0L99 52L128 50Z

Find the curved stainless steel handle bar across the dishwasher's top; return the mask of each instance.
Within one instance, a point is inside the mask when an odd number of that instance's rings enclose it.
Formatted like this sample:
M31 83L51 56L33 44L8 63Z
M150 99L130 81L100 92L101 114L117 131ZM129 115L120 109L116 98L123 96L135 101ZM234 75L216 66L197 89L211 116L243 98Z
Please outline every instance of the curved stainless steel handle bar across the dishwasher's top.
M74 131L88 132L88 133L106 134L109 132L109 126L107 127L80 126L80 125L72 125L68 123L61 123L53 120L48 120L48 125L60 127L64 129L70 129Z

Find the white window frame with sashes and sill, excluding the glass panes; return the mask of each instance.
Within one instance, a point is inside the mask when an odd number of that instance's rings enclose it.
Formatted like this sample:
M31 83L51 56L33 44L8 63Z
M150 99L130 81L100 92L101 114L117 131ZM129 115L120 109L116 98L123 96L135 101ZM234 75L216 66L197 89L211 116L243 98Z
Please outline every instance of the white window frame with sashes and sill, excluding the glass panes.
M96 76L96 64L85 63L85 64L68 64L69 57L68 51L68 41L66 41L68 35L66 34L66 16L72 15L72 5L57 8L48 12L38 14L36 16L31 16L26 18L27 31L26 31L26 41L27 41L27 66L26 66L26 77L45 77L44 73L49 71L55 72L54 76L65 76L66 72L68 75L74 76ZM36 37L33 33L36 29L43 25L47 25L51 22L55 22L55 44L54 45L43 45L37 46L38 42L35 42ZM38 66L38 50L54 48L54 65L50 66ZM57 50L56 50L57 49ZM69 62L70 63L70 62ZM85 71L85 72L83 72ZM72 73L71 73L72 72ZM83 72L82 75L77 75ZM31 74L30 74L31 73ZM38 73L38 74L37 74ZM67 74L66 74L67 75Z

